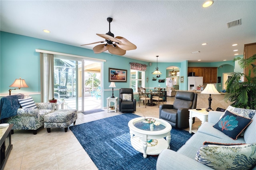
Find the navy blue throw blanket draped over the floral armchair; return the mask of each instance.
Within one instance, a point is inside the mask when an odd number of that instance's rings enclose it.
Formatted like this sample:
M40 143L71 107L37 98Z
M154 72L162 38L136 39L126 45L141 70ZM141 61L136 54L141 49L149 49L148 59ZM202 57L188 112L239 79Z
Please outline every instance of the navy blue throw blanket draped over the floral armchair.
M24 94L16 94L5 96L0 99L0 120L17 115L17 110L20 108L18 99L23 99Z

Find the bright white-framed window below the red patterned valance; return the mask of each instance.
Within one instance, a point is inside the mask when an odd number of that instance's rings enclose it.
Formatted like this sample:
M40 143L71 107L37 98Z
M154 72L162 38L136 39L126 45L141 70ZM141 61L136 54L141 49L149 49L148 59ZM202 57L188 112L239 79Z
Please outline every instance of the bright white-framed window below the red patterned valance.
M130 88L133 92L138 92L138 87L145 86L145 72L138 70L130 70Z

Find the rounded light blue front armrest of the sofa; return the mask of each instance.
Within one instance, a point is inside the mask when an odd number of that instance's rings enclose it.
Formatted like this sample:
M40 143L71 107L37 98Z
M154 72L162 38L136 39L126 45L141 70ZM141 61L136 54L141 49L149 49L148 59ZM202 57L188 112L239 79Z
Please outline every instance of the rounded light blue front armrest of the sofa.
M165 149L158 156L156 170L212 170L212 168L173 150Z

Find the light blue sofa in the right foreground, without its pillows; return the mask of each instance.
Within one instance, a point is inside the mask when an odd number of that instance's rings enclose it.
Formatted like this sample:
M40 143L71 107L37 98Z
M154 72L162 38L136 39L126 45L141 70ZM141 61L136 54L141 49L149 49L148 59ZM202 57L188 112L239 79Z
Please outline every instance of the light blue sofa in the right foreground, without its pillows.
M229 136L212 127L219 121L223 112L210 111L208 122L204 122L194 134L177 152L173 150L163 150L156 162L157 170L212 170L209 166L194 160L200 146L207 142L218 143L256 143L256 116L252 118L252 123L244 131L244 136L237 140L232 140ZM171 141L172 142L172 141ZM256 170L254 166L253 170Z

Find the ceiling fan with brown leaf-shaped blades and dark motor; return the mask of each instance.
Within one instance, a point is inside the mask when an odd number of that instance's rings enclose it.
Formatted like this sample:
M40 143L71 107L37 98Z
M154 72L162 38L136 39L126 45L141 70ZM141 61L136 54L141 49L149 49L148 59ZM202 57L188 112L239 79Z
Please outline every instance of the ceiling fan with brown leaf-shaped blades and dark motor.
M95 54L99 54L101 52L104 52L108 50L111 54L116 54L119 56L123 56L126 53L126 50L135 50L137 47L136 45L132 44L130 41L126 40L125 38L121 36L117 36L114 38L114 34L110 32L110 22L112 22L112 18L107 18L107 21L109 22L109 32L106 34L96 34L97 36L100 36L105 39L105 41L98 41L98 42L92 42L90 44L97 44L97 43L104 43L106 44L100 44L95 46L92 50ZM86 46L90 44L83 44L81 46Z

